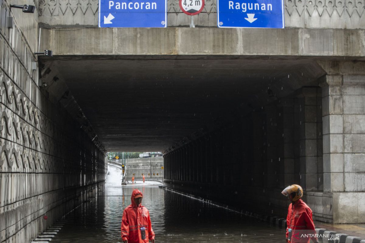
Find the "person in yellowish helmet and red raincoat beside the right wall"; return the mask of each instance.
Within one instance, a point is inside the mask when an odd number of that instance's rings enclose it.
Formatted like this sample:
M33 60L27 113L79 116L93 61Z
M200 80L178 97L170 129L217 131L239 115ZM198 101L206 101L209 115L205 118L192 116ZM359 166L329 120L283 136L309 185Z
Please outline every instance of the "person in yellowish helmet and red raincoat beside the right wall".
M312 219L312 210L303 200L300 185L290 185L283 190L284 196L292 202L288 208L286 240L289 243L318 243Z

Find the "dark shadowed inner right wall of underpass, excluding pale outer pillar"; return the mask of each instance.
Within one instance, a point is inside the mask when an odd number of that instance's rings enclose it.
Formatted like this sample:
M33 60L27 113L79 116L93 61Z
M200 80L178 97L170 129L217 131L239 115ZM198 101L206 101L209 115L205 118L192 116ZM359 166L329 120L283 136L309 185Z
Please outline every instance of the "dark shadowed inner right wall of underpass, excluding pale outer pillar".
M321 89L303 87L165 153L164 181L205 199L281 217L289 205L281 191L300 184L314 218L331 222L322 143Z

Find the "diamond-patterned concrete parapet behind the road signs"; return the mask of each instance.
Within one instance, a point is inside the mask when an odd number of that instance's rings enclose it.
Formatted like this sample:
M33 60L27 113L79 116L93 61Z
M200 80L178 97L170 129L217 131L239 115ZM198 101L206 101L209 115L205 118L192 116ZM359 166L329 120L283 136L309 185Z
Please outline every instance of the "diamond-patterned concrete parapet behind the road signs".
M365 0L284 0L285 27L364 28ZM40 0L39 16L44 27L97 26L98 0ZM188 27L190 17L178 0L167 1L168 26ZM203 11L194 17L197 27L217 26L216 0L206 0Z

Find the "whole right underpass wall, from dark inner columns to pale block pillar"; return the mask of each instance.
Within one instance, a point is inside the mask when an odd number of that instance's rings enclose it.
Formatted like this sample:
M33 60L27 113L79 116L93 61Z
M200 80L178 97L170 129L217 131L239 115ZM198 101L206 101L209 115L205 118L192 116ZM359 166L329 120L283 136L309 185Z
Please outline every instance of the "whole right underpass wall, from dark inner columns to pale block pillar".
M288 202L280 192L296 183L314 219L364 223L365 66L319 63L327 73L320 87L271 98L246 117L166 151L165 182L228 205L235 196L237 208L281 216Z

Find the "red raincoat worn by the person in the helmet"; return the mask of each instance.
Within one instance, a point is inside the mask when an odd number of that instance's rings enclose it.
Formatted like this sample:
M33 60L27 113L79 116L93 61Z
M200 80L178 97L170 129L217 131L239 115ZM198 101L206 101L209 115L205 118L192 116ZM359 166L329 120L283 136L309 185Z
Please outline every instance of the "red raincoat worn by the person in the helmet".
M309 238L303 236L303 234L316 234L312 219L312 210L303 200L299 199L289 205L287 224L287 239L289 235L288 229L292 229L290 243L310 242L310 239L317 242L315 237Z

